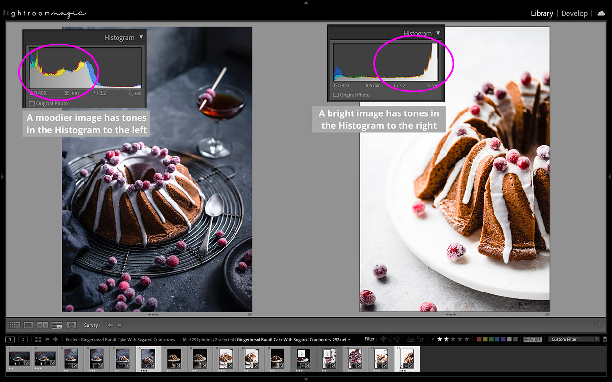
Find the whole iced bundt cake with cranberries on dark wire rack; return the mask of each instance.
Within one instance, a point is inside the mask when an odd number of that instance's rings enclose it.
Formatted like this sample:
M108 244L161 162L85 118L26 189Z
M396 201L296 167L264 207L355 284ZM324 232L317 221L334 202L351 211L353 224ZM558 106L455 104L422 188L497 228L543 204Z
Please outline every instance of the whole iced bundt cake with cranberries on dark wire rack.
M191 229L204 194L179 156L142 142L110 150L76 197L83 226L121 244L160 243Z

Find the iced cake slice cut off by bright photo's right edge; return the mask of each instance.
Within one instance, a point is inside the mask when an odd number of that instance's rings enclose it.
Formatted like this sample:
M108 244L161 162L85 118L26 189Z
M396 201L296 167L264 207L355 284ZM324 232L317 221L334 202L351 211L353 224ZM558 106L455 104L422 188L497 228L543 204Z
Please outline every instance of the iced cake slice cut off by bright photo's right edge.
M534 158L535 249L550 250L550 147L541 145Z

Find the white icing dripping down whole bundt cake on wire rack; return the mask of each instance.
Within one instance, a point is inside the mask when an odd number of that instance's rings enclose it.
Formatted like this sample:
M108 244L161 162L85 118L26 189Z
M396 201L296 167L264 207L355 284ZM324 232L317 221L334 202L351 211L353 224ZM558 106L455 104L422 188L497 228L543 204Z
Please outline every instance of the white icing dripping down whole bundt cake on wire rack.
M163 166L163 163L162 163L165 158L162 158L162 156L160 156L159 154L157 155L152 154L151 149L149 147L144 147L144 149L136 150L136 152L129 152L129 153L121 152L121 155L119 155L119 158L121 161L114 166L110 163L106 163L106 164L108 164L108 166L111 169L113 169L113 171L121 172L121 174L125 177L125 174L126 174L125 167L127 163L127 167L130 167L130 169L133 169L133 171L135 172L134 174L131 174L134 180L141 179L144 176L144 174L146 174L146 172L151 168L154 169L154 171L160 172L162 174L163 172L166 172L166 169L167 169L167 167ZM170 159L171 156L167 156L166 158ZM142 219L142 215L140 213L140 208L138 208L138 203L136 202L136 197L138 196L138 193L143 192L144 195L149 200L149 202L151 203L151 206L157 213L157 216L159 216L162 224L165 223L166 219L164 218L162 211L160 211L159 207L157 207L157 204L155 204L154 199L153 199L153 191L157 189L155 188L155 183L152 183L148 189L139 189L136 192L130 192L129 191L130 185L127 182L123 186L119 186L116 180L111 181L111 183L105 183L103 181L104 175L106 174L105 172L102 171L102 168L100 167L100 171L97 172L97 174L95 175L95 178L91 178L88 181L90 184L89 191L83 203L83 207L81 207L81 210L78 213L78 216L79 217L81 216L81 214L83 213L83 211L89 204L89 199L91 199L91 195L93 194L95 185L97 184L97 182L100 182L100 188L98 192L98 199L97 199L97 205L96 205L96 211L95 211L95 222L94 222L94 227L92 229L93 232L95 233L96 230L98 229L99 222L100 222L100 215L102 213L104 194L106 193L106 190L108 190L108 188L111 188L112 199L113 199L114 224L115 224L115 230L116 230L116 242L119 243L121 241L121 216L120 216L119 204L121 201L121 196L125 193L127 194L127 197L130 199L130 204L132 204L132 209L134 211L134 214L136 215L138 226L140 226L140 230L143 235L143 244L144 246L146 246L147 245L147 234L146 234L146 230L144 229L144 222ZM182 216L182 218L185 220L185 224L187 225L188 230L191 230L192 229L191 222L189 221L189 219L187 218L187 216L185 215L181 207L179 207L179 205L174 201L174 199L170 196L170 194L168 194L168 191L166 190L166 187L168 185L172 185L173 187L179 189L179 191L181 191L190 200L192 205L195 204L195 200L193 200L193 198L187 193L187 191L185 191L185 189L182 188L182 186L179 185L179 183L176 181L177 177L183 178L185 181L191 183L195 187L195 189L198 190L198 194L202 198L204 198L204 194L202 193L200 187L196 185L196 183L192 182L192 180L190 180L187 176L179 172L178 169L170 173L170 179L165 180L164 186L160 189L157 189L157 191L159 191L159 194L168 202L168 204L170 204L170 206L179 215ZM84 193L84 189L79 194L79 197L81 197L83 193Z

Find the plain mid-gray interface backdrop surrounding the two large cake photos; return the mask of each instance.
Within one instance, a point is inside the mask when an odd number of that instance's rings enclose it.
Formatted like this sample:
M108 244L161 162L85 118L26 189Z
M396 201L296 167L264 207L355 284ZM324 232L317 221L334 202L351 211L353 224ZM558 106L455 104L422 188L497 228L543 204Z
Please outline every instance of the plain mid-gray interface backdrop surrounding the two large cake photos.
M92 26L70 23L76 24ZM551 74L555 78L551 145L559 153L555 156L555 172L561 174L551 180L551 204L555 206L551 208L551 219L555 222L555 246L559 250L551 259L550 316L603 317L607 176L605 24L540 21L444 24L550 26ZM21 29L59 29L65 25L9 22L7 35L21 35ZM253 277L252 315L254 320L255 317L418 317L419 312L359 312L359 135L313 134L310 125L312 106L326 105L326 25L323 22L181 23L181 26L253 27L253 246L261 254L258 259L261 266ZM95 26L173 24L95 23ZM585 36L589 43L584 43ZM13 64L21 58L21 49L20 39L7 39L8 94L21 95ZM585 59L588 67L584 66ZM292 72L296 67L308 70L296 76ZM588 76L584 75L586 68ZM6 277L8 285L18 285L20 290L7 293L7 315L75 317L61 312L61 262L58 261L61 139L22 138L21 97L7 97L6 102L7 156L20 161L19 166L9 166L6 174L7 216L12 221L7 226ZM28 155L23 155L25 150ZM32 183L32 177L44 186L24 187ZM35 200L35 205L26 209L24 203L28 200ZM26 269L28 282L23 282L22 270ZM52 289L55 292L42 293ZM118 314L106 312L105 317ZM165 312L164 315L242 317L245 314ZM543 313L477 314L478 317L525 315L540 317ZM84 316L100 318L99 315Z

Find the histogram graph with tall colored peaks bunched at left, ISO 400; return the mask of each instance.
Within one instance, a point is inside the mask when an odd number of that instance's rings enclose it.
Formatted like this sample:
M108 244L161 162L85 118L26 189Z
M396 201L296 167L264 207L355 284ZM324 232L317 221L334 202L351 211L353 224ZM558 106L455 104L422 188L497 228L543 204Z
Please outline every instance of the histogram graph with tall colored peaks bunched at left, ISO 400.
M100 67L74 48L42 48L29 56L30 89L141 89L141 48L88 48Z

